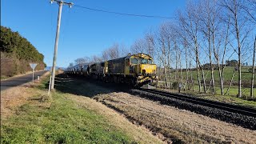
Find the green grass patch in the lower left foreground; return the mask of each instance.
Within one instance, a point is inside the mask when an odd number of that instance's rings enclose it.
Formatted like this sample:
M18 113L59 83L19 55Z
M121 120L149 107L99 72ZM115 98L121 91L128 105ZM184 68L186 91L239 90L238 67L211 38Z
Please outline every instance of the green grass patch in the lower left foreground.
M134 142L106 118L76 105L67 96L55 92L50 106L34 96L34 100L20 106L11 118L2 120L1 143Z

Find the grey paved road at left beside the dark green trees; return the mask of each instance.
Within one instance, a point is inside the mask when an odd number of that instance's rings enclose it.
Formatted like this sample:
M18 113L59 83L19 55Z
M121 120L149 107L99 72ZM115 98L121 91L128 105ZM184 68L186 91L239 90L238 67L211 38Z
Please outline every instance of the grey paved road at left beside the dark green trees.
M45 74L45 73L46 71L34 72L34 79L37 79L38 76L42 76L42 74ZM8 80L1 81L1 91L9 89L14 86L20 86L26 82L31 82L31 81L32 81L32 73L22 75L20 77L10 78Z

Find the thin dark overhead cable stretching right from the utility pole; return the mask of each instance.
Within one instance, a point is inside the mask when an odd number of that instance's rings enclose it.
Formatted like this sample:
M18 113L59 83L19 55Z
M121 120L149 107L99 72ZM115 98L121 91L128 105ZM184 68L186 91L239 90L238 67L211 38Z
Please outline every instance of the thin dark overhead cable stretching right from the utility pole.
M126 15L126 16L132 16L132 17L143 17L143 18L164 18L164 19L173 19L174 17L166 17L166 16L159 16L159 15L144 15L144 14L127 14L127 13L119 13L115 11L108 11L108 10L98 10L86 6L79 6L79 5L74 5L75 7L79 7L82 9L86 10L93 10L93 11L98 11L102 13L108 13L108 14L119 14L119 15Z

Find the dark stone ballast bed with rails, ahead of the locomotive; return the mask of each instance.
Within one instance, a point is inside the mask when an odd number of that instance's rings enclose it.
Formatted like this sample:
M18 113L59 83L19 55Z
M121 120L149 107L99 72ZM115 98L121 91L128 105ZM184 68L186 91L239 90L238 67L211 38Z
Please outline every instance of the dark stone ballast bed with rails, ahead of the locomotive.
M165 105L190 110L197 114L209 116L210 118L217 118L250 130L256 130L256 110L248 106L215 102L185 94L171 94L162 90L138 89L130 90L130 92Z

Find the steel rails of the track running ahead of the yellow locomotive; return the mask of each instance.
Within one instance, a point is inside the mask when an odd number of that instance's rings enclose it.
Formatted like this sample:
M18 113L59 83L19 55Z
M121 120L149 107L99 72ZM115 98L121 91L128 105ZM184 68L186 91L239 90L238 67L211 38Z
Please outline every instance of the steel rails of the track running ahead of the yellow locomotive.
M146 92L149 92L152 94L159 94L162 96L166 96L168 98L179 99L179 100L182 100L185 102L190 102L190 103L198 104L201 106L208 106L208 107L217 108L220 110L226 110L229 112L243 114L243 115L247 115L247 116L256 118L256 109L249 107L249 106L237 106L237 105L230 104L230 103L216 102L216 101L211 101L208 99L196 98L196 97L192 97L192 96L186 95L186 94L172 94L172 93L162 91L162 90L142 89L142 88L139 90L146 91Z

